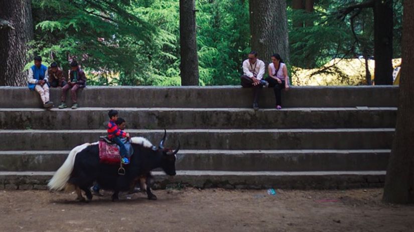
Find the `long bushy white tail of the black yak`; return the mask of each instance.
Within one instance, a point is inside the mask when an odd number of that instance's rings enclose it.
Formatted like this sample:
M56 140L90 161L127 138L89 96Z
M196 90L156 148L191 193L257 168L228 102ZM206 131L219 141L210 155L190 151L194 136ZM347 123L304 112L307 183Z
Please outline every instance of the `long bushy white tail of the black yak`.
M66 186L70 174L72 173L73 165L75 164L76 154L89 145L90 143L84 143L82 145L76 146L69 152L69 155L66 158L65 162L62 164L62 166L59 167L53 177L49 180L48 187L50 190L62 190Z

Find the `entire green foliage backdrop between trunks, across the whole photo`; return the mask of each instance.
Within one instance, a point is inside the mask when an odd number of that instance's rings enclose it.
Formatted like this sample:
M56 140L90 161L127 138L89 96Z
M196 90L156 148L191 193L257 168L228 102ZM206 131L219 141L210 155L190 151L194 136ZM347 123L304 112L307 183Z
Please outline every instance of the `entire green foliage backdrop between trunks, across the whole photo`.
M312 13L288 7L290 75L296 67L319 68L333 58L372 55L372 9L354 18L357 40L351 15L336 14L364 1L318 0ZM399 57L402 0L393 2L394 56ZM30 54L42 55L45 63L54 60L67 70L76 59L87 71L88 84L181 84L179 0L33 0L32 5ZM196 0L196 9L200 85L239 84L241 63L250 50L248 1ZM294 21L311 26L295 27Z

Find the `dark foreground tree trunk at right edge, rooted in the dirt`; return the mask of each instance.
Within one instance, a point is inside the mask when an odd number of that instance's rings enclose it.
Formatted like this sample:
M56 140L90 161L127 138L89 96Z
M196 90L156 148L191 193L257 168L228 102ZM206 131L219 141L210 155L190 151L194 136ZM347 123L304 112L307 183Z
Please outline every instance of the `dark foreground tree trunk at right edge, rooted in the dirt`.
M414 1L404 1L402 67L397 124L388 162L383 200L414 203Z

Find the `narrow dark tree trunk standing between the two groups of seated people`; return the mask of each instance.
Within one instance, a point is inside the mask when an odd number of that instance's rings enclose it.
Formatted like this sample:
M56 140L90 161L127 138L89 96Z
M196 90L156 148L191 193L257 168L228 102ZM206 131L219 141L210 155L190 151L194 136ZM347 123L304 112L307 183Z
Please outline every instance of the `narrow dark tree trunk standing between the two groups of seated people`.
M180 0L181 85L198 85L195 0Z

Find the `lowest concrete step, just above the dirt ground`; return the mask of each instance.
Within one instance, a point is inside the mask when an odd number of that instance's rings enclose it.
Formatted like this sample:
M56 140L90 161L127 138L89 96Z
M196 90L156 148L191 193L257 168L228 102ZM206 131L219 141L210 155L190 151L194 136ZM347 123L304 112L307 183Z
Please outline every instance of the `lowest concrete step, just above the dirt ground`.
M0 189L46 189L54 172L0 172ZM345 189L383 187L385 171L177 171L154 172L154 188ZM267 194L263 191L263 194Z

